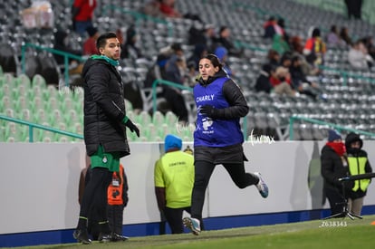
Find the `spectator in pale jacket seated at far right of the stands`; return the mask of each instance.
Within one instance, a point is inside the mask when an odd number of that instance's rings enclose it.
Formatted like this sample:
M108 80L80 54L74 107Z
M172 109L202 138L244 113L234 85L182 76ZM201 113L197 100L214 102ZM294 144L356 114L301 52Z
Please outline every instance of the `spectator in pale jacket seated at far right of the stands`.
M348 62L354 69L366 70L373 65L374 61L364 44L359 40L351 46L348 53Z

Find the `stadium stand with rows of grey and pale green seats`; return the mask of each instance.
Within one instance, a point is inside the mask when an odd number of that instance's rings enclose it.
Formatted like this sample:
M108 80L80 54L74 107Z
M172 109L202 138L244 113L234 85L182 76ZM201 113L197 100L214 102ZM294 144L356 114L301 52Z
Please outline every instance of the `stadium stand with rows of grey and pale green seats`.
M53 32L59 28L69 32L69 43L74 49L82 48L85 37L70 32L70 5L72 1L52 1L54 28L26 28L20 12L32 1L15 0L8 3L0 0L0 113L20 120L45 124L56 129L82 134L82 89L65 88L64 84L51 84L51 79L41 75L38 52L28 48L23 70L22 48L24 43L43 47L53 46ZM139 33L141 59L122 59L119 68L124 81L131 81L141 91L144 110L133 110L127 101L128 115L142 127L141 137L129 134L131 141L159 141L170 131L182 132L186 141L192 140L194 129L194 104L191 92L185 92L189 110L189 124L178 127L177 117L170 111L152 113L150 88L144 86L147 73L155 65L159 50L172 43L182 43L186 57L194 47L188 45L188 30L196 21L188 18L155 18L141 14L139 9L148 0L105 0L95 11L95 24L100 31L126 30L136 24ZM11 6L9 6L11 5ZM209 5L209 11L207 6ZM311 77L321 85L323 94L313 100L303 95L292 98L274 93L255 92L254 85L266 54L272 43L263 38L263 24L270 16L283 17L287 34L298 35L303 41L308 38L310 27L320 27L327 34L332 24L346 26L353 38L374 34L375 26L366 21L348 20L343 14L322 10L316 6L278 0L191 0L176 1L176 8L183 14L199 14L203 24L226 25L232 32L236 46L244 50L244 56L229 57L235 79L245 92L251 108L243 123L246 134L272 135L275 139L288 139L289 119L292 115L340 124L352 129L375 132L375 71L354 70L347 54L349 46L330 47L325 54L322 74ZM14 30L14 31L13 31ZM53 57L49 57L53 58ZM60 72L60 70L59 70ZM63 75L59 75L63 82ZM70 81L72 84L72 79ZM158 103L162 101L159 98ZM0 141L27 141L27 127L1 120ZM325 138L325 125L296 120L293 124L293 139L311 140ZM370 137L363 137L371 139ZM72 142L63 135L50 131L34 132L34 141Z

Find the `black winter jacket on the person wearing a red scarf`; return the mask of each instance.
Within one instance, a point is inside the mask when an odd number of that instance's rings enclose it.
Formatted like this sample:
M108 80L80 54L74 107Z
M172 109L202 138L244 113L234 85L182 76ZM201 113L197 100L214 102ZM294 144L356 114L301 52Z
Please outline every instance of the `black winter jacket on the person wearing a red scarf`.
M323 187L334 188L341 192L341 181L339 178L349 176L348 162L344 158L345 164L341 157L333 150L333 148L325 145L322 148L321 162L322 162L322 177L324 179ZM352 183L347 182L345 189L351 189Z

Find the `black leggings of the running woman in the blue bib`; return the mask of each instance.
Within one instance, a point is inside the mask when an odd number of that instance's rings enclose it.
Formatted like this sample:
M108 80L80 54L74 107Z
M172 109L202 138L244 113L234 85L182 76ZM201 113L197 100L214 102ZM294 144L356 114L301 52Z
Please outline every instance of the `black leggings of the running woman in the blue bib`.
M205 193L209 178L214 171L215 164L208 161L195 162L195 180L191 196L191 216L202 222L202 210L205 203ZM244 163L223 164L233 182L239 188L245 188L258 183L258 177L245 172Z

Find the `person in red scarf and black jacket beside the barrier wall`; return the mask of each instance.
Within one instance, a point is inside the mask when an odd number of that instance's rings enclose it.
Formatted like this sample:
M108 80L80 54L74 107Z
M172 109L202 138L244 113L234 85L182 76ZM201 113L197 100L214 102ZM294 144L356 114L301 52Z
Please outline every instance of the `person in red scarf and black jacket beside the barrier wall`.
M331 215L338 215L344 208L345 199L342 196L342 187L339 178L349 176L348 160L345 145L341 134L334 129L328 131L328 141L322 148L321 163L323 193L327 196L331 206ZM345 186L352 188L351 181Z

